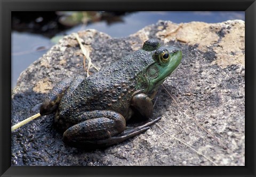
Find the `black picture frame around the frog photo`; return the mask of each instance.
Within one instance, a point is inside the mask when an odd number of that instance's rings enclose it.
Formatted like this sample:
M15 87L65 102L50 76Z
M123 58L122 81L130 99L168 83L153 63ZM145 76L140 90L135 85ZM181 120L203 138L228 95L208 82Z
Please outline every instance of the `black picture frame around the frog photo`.
M253 0L0 0L1 176L255 176L255 9ZM118 9L117 9L118 7ZM11 166L12 11L245 11L245 166Z

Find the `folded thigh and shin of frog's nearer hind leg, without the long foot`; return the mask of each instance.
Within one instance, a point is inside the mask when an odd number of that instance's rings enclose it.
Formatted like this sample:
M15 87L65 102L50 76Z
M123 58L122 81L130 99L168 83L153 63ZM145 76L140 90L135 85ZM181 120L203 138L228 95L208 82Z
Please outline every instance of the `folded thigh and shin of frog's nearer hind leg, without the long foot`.
M98 148L108 146L108 141L126 128L124 117L114 111L88 111L77 117L81 122L63 133L63 141L74 147ZM102 144L98 145L98 140Z

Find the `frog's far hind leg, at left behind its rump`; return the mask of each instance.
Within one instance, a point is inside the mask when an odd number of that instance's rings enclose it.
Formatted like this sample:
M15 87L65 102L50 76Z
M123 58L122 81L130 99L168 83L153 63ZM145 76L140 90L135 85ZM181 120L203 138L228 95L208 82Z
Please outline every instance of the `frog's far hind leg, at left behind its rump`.
M58 108L60 100L67 89L75 89L83 80L84 77L79 75L75 78L63 79L57 83L57 85L55 85L49 92L43 104L40 106L40 114L46 115L54 112Z

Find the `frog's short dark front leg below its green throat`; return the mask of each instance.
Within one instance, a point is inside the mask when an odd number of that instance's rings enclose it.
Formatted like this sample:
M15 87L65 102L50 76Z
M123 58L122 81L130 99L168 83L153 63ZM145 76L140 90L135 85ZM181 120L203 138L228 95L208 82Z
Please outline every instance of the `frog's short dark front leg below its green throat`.
M137 109L147 119L152 115L153 102L146 94L137 94L132 97L131 106Z

